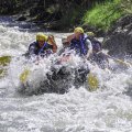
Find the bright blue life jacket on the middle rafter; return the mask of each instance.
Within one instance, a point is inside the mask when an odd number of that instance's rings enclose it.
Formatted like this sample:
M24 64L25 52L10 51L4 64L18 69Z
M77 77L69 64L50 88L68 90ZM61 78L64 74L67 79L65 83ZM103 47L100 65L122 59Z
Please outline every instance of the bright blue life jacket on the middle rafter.
M78 55L87 55L88 46L86 45L87 35L80 36L79 40L73 38L70 43L70 50L75 50Z

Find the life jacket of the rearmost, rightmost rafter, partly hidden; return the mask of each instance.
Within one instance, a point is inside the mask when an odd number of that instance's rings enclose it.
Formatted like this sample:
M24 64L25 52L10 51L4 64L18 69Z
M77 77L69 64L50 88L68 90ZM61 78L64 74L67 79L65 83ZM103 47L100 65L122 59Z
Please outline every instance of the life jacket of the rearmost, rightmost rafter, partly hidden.
M101 51L101 43L94 37L88 36L88 38L90 40L90 42L92 44L92 51L95 51L96 53L100 52Z

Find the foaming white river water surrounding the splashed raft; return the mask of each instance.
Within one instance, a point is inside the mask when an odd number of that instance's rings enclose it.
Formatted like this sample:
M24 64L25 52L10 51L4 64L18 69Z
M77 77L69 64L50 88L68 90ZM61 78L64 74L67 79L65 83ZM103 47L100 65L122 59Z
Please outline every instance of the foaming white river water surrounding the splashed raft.
M0 55L21 56L35 34L29 26L22 29L2 18ZM52 34L61 47L61 37L67 34ZM14 61L8 67L9 75L0 79L0 132L132 132L131 67L114 73L96 70L100 88L94 92L73 86L64 95L37 96L18 92L20 67Z

